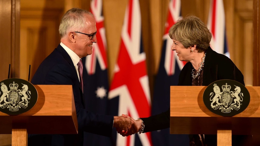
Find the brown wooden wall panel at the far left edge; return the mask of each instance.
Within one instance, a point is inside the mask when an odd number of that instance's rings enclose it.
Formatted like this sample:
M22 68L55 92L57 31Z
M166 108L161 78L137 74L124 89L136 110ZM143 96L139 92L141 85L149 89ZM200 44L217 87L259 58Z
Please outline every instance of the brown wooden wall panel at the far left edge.
M0 81L19 77L20 0L0 1ZM2 92L2 91L1 91ZM0 134L0 145L11 146L11 134Z

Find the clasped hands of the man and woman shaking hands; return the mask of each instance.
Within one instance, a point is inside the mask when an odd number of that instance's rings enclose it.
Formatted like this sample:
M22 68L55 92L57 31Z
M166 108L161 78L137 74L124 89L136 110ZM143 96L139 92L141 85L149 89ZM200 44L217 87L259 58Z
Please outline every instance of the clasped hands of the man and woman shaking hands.
M114 116L114 125L117 133L122 136L129 136L139 132L143 132L144 124L141 119L134 120L128 115L122 114L122 116Z

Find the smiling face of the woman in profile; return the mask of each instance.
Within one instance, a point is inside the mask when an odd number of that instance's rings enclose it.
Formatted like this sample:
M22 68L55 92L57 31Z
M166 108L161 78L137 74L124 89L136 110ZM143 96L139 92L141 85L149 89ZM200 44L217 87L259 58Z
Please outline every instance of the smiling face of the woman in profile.
M180 61L190 61L191 49L185 48L182 43L173 39L172 50L176 51Z

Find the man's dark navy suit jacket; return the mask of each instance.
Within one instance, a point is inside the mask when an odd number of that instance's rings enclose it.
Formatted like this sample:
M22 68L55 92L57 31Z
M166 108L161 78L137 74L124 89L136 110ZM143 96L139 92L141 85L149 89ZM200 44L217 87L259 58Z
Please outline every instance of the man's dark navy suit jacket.
M85 71L83 76L84 74ZM94 114L85 109L84 93L81 91L77 72L70 56L61 45L58 45L40 64L31 82L34 85L72 85L78 119L78 134L28 135L28 145L83 145L83 131L104 136L112 134L113 116ZM84 92L87 91L84 89Z

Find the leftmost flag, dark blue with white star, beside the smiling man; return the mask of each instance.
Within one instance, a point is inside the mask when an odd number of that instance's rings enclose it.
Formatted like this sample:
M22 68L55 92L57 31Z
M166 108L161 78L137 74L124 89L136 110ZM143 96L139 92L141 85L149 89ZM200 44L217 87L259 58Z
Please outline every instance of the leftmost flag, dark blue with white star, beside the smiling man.
M85 104L90 112L107 115L108 74L106 57L106 36L103 25L102 0L92 0L90 11L97 27L97 43L93 43L92 54L82 58L87 76L84 76ZM86 73L84 73L86 74ZM84 132L84 146L110 146L111 139L106 136Z

